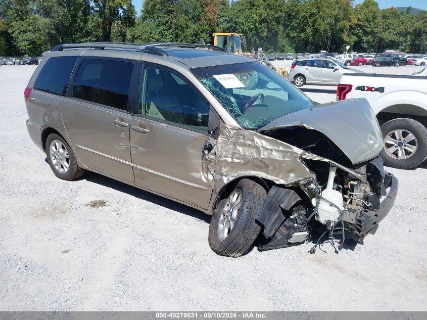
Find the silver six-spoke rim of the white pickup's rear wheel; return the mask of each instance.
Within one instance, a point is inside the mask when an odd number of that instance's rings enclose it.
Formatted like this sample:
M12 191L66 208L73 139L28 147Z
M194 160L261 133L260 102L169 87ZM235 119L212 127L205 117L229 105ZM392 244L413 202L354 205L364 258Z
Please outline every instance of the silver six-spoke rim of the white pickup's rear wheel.
M391 131L384 139L384 150L393 159L408 159L415 153L417 146L415 136L408 130Z

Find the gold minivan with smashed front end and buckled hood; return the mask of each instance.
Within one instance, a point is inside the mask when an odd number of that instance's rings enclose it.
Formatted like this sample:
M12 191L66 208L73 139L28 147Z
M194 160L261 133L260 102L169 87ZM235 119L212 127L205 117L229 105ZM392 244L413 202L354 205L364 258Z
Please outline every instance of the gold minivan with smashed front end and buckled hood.
M315 223L319 241L363 243L395 201L366 100L316 104L211 45L61 44L24 97L56 176L90 170L211 214L220 255L301 244Z

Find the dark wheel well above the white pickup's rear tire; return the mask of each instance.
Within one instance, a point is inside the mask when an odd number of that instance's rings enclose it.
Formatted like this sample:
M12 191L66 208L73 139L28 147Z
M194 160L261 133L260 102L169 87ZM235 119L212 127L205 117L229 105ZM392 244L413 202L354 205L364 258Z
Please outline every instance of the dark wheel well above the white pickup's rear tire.
M407 112L402 113L401 111ZM411 113L411 114L408 114ZM394 105L387 107L376 115L379 125L397 118L409 118L421 122L427 126L427 111L414 105Z

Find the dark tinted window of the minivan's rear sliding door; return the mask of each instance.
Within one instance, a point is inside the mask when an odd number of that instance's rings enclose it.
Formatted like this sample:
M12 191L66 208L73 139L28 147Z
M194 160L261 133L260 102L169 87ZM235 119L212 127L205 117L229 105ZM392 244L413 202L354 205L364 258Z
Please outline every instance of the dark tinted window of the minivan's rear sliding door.
M127 110L134 63L83 59L73 85L73 98Z

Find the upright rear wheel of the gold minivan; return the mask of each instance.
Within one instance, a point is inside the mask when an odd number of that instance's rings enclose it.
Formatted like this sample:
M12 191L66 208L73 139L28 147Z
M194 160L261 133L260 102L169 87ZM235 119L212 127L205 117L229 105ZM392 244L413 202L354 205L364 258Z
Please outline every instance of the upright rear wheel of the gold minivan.
M68 143L56 133L49 134L44 151L52 171L60 179L74 180L86 171L78 166Z

